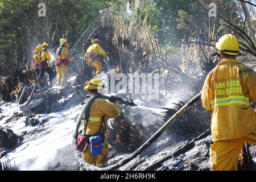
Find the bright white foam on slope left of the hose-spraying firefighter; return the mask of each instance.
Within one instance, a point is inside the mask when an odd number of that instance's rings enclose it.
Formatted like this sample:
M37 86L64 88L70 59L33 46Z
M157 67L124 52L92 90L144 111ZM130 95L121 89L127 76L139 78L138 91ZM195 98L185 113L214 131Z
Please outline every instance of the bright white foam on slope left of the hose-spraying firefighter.
M3 115L13 115L13 111L20 111L15 104L1 106ZM53 162L57 150L66 147L72 142L73 131L75 131L75 120L80 113L81 105L71 107L59 113L40 114L40 117L49 117L49 120L41 126L25 127L24 119L5 124L6 118L0 121L1 127L10 127L15 134L27 131L22 144L15 150L1 158L1 162L10 159L20 167L20 170L44 170L49 162ZM10 118L9 117L9 118ZM36 131L39 130L39 131ZM35 133L33 133L35 131Z

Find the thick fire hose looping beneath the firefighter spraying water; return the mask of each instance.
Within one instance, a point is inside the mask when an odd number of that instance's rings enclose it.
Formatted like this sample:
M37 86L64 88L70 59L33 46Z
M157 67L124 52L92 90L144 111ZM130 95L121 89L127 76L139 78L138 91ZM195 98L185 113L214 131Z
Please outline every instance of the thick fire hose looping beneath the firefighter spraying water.
M108 96L104 96L104 95L102 95L102 96L105 99L108 99L108 100L110 99L110 97L108 97ZM187 102L187 104L185 104L183 107L181 107L174 115L172 115L172 117L170 119L168 119L168 121L166 123L164 123L164 125L162 127L160 127L160 129L158 129L158 131L156 131L156 133L154 135L152 135L152 137L150 137L144 144L142 144L141 147L139 147L132 154L129 154L128 156L124 157L122 160L120 160L116 164L113 164L112 166L100 168L100 167L94 166L92 164L86 163L85 160L81 158L81 154L77 148L77 136L79 135L79 127L81 124L82 115L84 114L85 109L87 107L86 103L89 103L89 100L93 99L92 97L90 97L88 102L86 102L84 104L84 106L82 106L82 111L79 114L79 117L77 118L76 130L75 130L75 133L73 134L73 148L75 150L75 157L76 157L77 161L79 162L80 167L86 169L86 171L111 171L114 169L118 169L119 167L127 164L128 162L130 162L131 160L136 158L139 154L141 154L141 152L143 152L148 146L150 146L150 144L152 142L154 142L156 139L158 139L160 137L160 135L162 135L162 133L170 125L172 125L181 115L183 115L185 113L185 111L187 111L193 104L195 104L195 102L200 100L200 98L201 98L201 92L199 94L197 94L195 97L193 97L191 100L189 100ZM119 99L119 100L121 100L121 99ZM125 104L125 103L128 104L128 102L129 101L125 101L125 102L123 102L123 104Z

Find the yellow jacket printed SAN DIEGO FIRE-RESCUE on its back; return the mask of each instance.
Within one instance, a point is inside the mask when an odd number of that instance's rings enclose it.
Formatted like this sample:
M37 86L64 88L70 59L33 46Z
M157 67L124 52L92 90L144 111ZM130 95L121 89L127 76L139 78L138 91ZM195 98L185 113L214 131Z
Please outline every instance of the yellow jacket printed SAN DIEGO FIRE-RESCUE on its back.
M207 76L201 100L212 110L212 139L243 137L256 129L256 73L236 59L224 59Z

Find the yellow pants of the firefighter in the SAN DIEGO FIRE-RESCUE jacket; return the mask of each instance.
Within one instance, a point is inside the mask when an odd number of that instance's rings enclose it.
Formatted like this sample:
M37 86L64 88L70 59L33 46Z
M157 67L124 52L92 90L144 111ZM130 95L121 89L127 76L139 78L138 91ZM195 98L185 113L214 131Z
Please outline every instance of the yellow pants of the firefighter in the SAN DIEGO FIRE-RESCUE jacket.
M210 168L216 171L237 171L243 143L256 145L256 130L245 137L216 141L210 146Z

